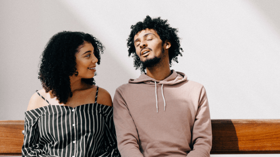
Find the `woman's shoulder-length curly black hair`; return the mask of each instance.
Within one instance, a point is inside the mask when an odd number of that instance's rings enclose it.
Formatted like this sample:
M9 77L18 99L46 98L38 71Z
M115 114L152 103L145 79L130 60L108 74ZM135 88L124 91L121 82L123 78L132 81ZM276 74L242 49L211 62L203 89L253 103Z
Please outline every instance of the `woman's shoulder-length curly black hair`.
M94 55L100 63L103 53L102 43L91 34L83 32L62 31L53 35L47 42L41 55L38 72L42 87L51 92L59 103L65 104L72 97L69 76L78 75L76 57L80 45L89 42L94 47ZM95 85L94 79L82 79L89 85Z

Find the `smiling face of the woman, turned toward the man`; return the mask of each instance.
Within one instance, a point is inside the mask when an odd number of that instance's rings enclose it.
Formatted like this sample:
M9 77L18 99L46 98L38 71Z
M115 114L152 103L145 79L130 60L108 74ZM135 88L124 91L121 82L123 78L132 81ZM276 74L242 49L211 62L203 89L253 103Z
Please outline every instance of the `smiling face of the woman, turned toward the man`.
M92 78L94 76L95 66L98 59L94 56L94 47L90 42L84 42L78 47L75 54L76 68L80 78Z

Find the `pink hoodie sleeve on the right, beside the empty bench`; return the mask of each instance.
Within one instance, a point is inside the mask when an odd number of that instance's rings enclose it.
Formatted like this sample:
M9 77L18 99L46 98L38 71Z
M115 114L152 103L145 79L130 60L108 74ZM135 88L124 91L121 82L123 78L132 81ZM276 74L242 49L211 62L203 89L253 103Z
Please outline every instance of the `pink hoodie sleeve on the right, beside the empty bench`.
M186 157L210 157L212 147L212 129L207 95L204 87L200 91L191 144L193 146Z

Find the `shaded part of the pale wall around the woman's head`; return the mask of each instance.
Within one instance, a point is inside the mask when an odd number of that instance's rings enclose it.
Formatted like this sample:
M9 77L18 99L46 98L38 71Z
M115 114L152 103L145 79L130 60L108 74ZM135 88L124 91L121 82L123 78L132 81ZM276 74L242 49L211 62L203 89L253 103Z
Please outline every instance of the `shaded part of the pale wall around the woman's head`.
M38 62L49 38L62 30L84 31L98 39L106 36L100 35L98 28L82 23L59 1L4 0L0 13L0 120L24 120L30 97L42 88L37 78ZM105 47L110 44L100 41ZM96 84L113 96L115 88L128 82L130 75L109 53L105 50L101 56Z

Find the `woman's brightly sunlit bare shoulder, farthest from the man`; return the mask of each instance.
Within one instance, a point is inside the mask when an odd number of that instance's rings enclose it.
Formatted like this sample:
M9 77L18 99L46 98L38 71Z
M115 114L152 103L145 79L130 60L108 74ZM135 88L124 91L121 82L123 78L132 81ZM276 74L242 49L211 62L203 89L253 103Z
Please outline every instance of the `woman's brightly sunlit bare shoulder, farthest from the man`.
M44 89L39 90L38 93L42 96L46 95ZM34 110L46 105L48 105L47 102L43 100L37 93L34 93L29 100L27 111Z

